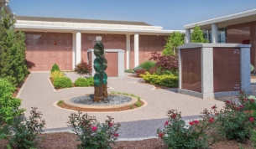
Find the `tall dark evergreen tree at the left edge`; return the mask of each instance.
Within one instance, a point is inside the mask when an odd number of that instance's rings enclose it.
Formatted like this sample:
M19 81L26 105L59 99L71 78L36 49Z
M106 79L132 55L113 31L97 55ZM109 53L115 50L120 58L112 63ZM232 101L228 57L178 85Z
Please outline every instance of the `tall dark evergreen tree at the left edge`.
M14 86L28 74L25 64L25 35L14 29L15 20L2 12L0 19L0 78L6 78Z

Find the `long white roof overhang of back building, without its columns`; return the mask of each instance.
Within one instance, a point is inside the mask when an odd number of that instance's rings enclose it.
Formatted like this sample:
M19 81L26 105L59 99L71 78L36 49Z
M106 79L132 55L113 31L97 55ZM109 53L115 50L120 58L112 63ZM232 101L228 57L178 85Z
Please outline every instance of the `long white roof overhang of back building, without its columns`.
M169 35L174 31L185 33L184 30L162 30L158 26L103 24L103 23L65 23L65 22L44 22L17 20L15 28L30 32L65 32L74 33L118 33L118 34L152 34Z

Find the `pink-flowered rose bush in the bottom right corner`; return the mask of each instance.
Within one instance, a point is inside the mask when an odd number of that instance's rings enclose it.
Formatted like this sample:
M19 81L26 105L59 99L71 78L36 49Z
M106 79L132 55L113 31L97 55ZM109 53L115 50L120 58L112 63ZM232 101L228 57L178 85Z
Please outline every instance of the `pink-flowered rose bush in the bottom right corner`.
M238 102L225 100L225 105L221 110L217 110L217 106L213 105L212 110L204 110L203 117L209 119L213 117L216 120L212 125L213 140L226 138L238 142L246 142L252 136L253 128L255 128L254 111L250 110L250 105L255 100L246 98L244 90L240 91Z

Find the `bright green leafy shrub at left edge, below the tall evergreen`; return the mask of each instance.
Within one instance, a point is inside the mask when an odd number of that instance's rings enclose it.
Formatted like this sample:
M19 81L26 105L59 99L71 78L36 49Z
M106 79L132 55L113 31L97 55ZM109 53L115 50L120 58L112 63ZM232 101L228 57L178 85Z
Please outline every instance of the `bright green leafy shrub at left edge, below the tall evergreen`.
M13 118L24 112L24 109L18 109L21 100L13 97L14 90L15 88L8 80L0 79L0 121L8 124L12 124Z

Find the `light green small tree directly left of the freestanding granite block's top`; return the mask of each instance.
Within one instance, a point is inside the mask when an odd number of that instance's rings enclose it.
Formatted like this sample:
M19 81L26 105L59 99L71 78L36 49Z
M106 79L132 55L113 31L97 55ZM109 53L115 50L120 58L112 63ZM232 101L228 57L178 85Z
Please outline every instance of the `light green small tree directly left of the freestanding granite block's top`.
M174 32L171 33L166 40L165 49L163 55L175 55L177 53L177 47L184 44L185 33Z

